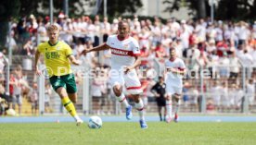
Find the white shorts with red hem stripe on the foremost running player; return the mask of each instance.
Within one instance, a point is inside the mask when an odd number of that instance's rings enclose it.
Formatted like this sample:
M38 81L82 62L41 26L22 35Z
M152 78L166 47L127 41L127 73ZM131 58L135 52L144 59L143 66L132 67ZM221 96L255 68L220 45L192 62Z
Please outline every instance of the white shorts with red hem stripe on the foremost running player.
M110 75L111 86L122 85L130 94L142 93L141 83L138 79L135 69L129 71L127 74Z

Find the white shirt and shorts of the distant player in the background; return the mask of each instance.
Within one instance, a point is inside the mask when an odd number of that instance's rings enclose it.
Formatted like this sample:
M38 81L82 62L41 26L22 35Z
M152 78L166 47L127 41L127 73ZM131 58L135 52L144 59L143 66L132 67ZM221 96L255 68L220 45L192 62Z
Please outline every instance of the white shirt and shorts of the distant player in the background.
M176 69L179 69L179 70L185 70L186 69L186 66L185 66L185 63L182 59L180 58L175 58L175 60L171 61L171 60L167 60L165 62L165 68L170 68L170 67L173 67L173 68L176 68ZM167 77L166 77L166 84L170 84L170 86L175 86L175 87L179 87L179 88L182 88L183 86L183 76L180 75L180 74L176 74L176 73L173 73L173 72L167 72Z

